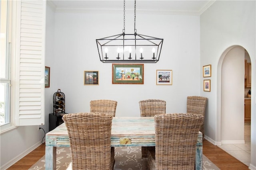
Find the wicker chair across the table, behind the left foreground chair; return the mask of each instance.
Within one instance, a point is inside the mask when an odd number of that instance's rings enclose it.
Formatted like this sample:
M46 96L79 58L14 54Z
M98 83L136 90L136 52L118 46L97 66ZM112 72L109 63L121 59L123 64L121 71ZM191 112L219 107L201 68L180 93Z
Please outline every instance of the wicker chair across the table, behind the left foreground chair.
M90 101L91 113L107 113L116 116L117 102L114 100L92 100Z

